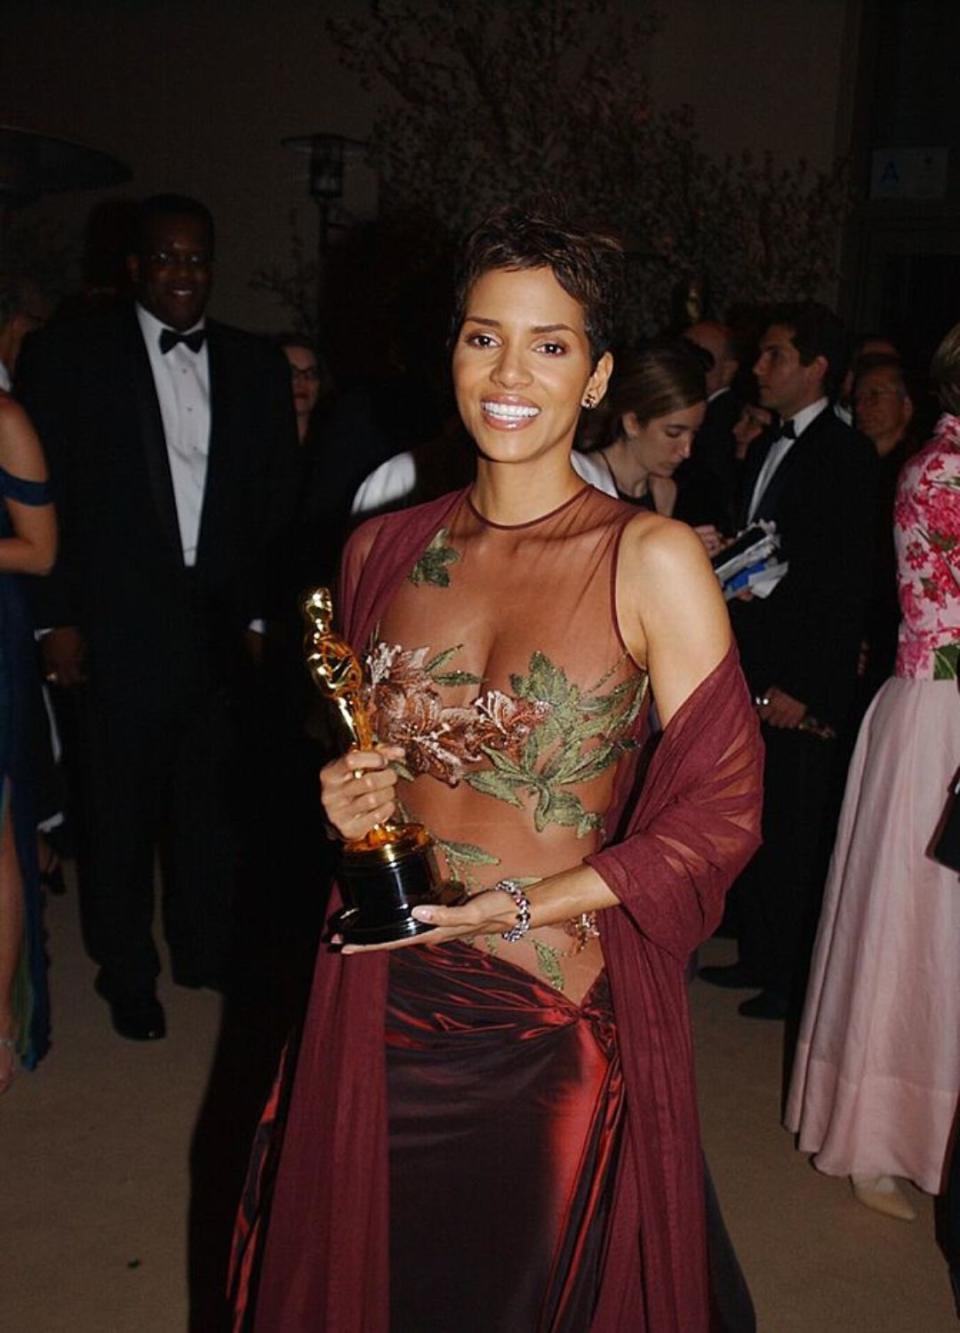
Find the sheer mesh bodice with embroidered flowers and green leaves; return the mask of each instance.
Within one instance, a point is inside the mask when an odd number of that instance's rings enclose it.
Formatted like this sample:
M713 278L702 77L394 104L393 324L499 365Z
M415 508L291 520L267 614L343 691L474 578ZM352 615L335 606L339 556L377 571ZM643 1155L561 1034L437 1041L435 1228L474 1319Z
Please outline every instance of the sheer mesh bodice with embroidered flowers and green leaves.
M539 880L599 845L647 686L615 615L632 517L591 487L520 527L464 500L375 631L375 725L405 748L404 812L469 890ZM573 1000L603 965L581 920L477 944Z

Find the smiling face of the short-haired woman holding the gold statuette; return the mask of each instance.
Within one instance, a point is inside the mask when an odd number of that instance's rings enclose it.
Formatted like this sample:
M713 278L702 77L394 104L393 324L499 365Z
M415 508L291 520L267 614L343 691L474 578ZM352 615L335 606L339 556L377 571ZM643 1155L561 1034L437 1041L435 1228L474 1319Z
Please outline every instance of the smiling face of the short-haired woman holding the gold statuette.
M467 296L453 387L480 453L524 463L569 452L580 408L603 397L612 368L591 364L584 311L549 268L493 268Z

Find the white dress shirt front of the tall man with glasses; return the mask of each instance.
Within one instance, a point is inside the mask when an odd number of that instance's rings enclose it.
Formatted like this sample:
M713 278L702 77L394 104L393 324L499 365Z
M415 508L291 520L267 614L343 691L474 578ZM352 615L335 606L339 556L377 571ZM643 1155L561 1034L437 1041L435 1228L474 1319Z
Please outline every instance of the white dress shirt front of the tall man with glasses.
M207 485L207 457L209 455L209 356L207 344L191 352L177 343L169 352L160 351L161 324L149 311L137 304L137 320L147 344L153 384L160 403L167 457L169 459L173 499L184 564L196 564L200 513ZM200 320L191 329L204 327Z

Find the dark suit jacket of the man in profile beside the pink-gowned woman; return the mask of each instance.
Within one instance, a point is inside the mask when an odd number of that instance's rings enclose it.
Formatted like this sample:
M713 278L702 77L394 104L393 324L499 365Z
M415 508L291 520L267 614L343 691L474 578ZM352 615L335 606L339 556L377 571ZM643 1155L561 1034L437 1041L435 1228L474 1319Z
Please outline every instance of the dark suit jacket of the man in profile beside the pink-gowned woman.
M771 444L756 440L747 456L741 523ZM876 479L872 444L825 408L773 473L756 515L776 523L789 572L769 597L729 604L751 689L777 685L835 728L856 684Z

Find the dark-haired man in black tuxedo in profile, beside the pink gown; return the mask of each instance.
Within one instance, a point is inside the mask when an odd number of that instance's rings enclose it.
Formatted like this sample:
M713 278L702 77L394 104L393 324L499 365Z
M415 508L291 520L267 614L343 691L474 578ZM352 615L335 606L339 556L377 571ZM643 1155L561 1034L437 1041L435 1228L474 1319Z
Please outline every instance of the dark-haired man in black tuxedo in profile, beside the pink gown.
M776 523L789 569L769 596L731 604L764 722L764 844L736 886L740 961L701 972L720 985L760 986L740 1006L749 1017L785 1017L803 997L824 808L871 587L876 451L829 407L844 349L843 325L825 307L784 305L753 368L760 401L783 425L751 447L741 525Z

